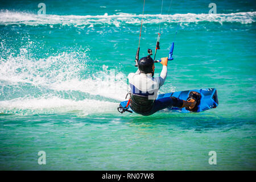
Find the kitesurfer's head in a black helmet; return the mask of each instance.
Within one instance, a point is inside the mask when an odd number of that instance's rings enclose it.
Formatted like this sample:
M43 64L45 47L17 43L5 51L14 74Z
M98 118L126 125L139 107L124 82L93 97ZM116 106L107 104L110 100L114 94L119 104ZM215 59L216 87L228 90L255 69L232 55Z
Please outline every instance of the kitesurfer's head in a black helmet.
M154 65L154 60L150 57L150 55L146 57L142 57L138 61L138 67L141 73L146 73L146 74L152 73L152 76L154 75L155 65Z

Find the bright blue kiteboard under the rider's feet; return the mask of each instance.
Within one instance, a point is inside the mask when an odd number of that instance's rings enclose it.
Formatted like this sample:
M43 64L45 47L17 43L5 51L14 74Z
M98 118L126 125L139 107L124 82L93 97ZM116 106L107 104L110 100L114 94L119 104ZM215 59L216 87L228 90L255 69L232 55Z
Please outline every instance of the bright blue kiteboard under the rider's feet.
M198 106L197 113L201 111L205 111L208 109L213 109L218 106L218 96L217 96L217 90L214 88L211 89L195 89L195 90L186 90L186 91L179 91L179 92L171 92L171 93L164 93L164 94L159 94L156 100L164 97L177 97L181 100L187 100L188 95L191 91L195 91L201 94L201 100L200 100L200 105ZM128 101L123 101L120 103L120 107L126 108ZM126 108L128 111L132 112L133 110L131 109L130 106ZM191 111L185 109L183 107L180 109L179 107L168 107L168 110L170 111L176 111L180 113L190 113Z

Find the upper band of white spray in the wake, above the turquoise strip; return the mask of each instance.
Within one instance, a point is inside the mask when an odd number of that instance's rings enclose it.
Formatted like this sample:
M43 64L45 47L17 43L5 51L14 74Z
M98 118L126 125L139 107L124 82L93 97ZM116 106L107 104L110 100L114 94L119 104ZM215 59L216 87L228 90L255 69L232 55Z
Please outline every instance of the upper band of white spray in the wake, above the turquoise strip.
M11 55L7 60L1 59L0 80L7 85L29 83L57 91L77 90L94 96L123 100L128 89L123 73L115 69L108 70L103 65L101 71L88 78L81 78L81 71L88 71L88 65L86 61L81 63L80 59L75 52L62 52L39 60L28 58L23 53Z

